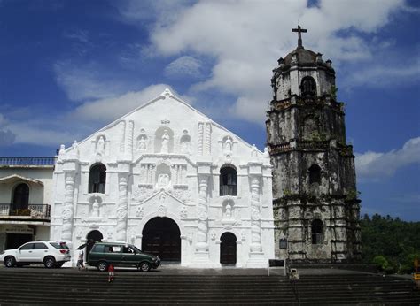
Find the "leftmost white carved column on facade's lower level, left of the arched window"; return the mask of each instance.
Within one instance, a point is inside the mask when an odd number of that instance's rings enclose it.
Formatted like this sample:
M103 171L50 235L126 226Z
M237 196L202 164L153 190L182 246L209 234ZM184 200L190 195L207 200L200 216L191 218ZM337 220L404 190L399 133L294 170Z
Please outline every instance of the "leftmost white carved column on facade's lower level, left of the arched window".
M65 186L66 191L64 195L64 207L61 212L63 218L63 227L61 232L61 239L64 241L72 241L73 236L73 199L74 199L74 171L65 171Z

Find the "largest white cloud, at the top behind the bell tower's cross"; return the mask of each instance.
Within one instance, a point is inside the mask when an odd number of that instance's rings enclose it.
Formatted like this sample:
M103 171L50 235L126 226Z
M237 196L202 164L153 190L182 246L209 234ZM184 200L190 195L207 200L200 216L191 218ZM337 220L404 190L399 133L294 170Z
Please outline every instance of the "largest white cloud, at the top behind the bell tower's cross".
M271 96L271 70L278 57L296 47L297 37L291 32L296 20L308 28L303 38L307 48L328 52L325 57L333 57L338 65L340 61L366 62L377 43L369 43L361 33L374 35L404 2L323 0L311 8L306 0L263 5L257 1L198 1L190 6L182 2L175 8L167 4L133 0L119 8L128 22L142 25L150 18L145 16L144 5L152 7L156 13L152 45L144 50L155 56L211 57L211 77L192 84L191 93L218 90L236 96L230 105L232 114L262 124ZM171 9L175 10L172 14Z

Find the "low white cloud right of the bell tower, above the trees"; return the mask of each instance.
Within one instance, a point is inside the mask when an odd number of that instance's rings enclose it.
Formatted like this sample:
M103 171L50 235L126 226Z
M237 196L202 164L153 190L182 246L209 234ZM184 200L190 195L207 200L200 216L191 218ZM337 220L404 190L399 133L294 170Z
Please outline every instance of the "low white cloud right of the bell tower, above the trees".
M408 164L420 164L420 137L408 140L401 149L355 154L356 174L362 180L392 177L398 169Z

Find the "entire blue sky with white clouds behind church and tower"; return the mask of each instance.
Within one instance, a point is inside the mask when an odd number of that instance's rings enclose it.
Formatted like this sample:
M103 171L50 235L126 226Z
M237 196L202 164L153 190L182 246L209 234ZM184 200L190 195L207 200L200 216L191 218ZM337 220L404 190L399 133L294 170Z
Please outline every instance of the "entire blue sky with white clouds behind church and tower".
M0 156L52 156L167 87L262 149L299 20L336 69L362 213L418 221L419 17L415 0L0 0Z

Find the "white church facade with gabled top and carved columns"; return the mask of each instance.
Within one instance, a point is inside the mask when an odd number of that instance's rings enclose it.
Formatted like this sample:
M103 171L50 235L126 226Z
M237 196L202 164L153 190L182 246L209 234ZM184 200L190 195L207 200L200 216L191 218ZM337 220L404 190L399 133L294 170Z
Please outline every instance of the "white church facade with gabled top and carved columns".
M73 146L54 170L51 240L125 241L182 266L274 258L272 167L166 89ZM74 256L75 257L75 256Z

